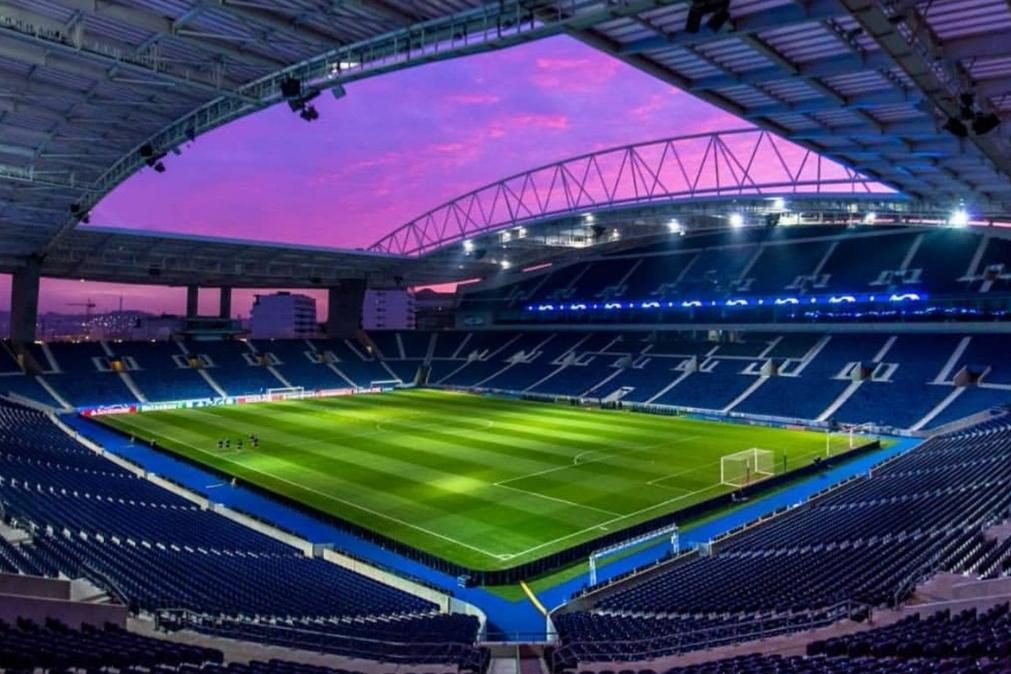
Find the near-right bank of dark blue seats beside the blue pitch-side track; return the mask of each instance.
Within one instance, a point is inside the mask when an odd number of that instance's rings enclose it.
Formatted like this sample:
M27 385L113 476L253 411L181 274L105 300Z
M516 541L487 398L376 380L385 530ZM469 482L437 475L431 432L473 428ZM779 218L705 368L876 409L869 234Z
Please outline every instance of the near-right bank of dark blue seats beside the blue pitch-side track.
M687 555L562 613L556 665L674 653L749 634L741 623L810 623L834 607L893 604L927 571L1003 573L1011 544L984 524L1011 508L1011 423L928 441L743 535ZM766 632L764 628L762 632Z

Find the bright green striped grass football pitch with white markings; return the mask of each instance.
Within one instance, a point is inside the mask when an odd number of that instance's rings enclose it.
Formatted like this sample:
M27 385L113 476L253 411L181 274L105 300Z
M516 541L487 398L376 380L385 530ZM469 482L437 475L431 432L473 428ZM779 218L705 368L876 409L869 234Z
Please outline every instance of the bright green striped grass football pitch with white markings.
M790 470L823 432L435 390L108 416L106 423L474 569L500 569L729 491L720 457ZM260 438L251 449L249 434ZM232 448L217 442L229 439ZM247 438L245 449L237 441ZM847 446L833 438L833 451Z

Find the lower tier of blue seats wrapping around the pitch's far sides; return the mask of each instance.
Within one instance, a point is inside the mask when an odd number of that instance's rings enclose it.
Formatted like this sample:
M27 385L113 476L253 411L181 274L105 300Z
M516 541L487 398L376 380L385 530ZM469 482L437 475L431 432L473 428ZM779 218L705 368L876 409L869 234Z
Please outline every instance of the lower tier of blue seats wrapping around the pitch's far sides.
M907 429L938 427L1011 401L999 335L742 331L713 341L660 330L405 334L377 331L357 343L54 345L50 354L59 370L0 375L0 388L51 406L91 407L284 387L412 384L423 377L421 383L445 388ZM120 372L109 370L112 362Z

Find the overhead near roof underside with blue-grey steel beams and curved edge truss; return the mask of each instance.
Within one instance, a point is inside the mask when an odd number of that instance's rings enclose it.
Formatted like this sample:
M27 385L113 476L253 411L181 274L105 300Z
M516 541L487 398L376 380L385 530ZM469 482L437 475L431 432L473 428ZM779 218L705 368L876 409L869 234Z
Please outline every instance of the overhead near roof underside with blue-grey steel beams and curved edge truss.
M285 80L340 94L559 33L913 199L1008 212L1009 29L1007 0L5 0L0 259L59 250L115 185Z

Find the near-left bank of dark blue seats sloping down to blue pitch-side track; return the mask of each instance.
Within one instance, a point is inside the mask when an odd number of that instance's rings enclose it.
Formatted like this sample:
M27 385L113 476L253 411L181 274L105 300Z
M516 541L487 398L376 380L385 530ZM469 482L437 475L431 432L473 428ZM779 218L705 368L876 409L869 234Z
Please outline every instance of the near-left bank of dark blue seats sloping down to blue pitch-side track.
M311 622L342 653L370 656L399 630L402 641L407 632L430 637L422 653L398 647L404 661L473 657L473 618L445 617L427 600L202 510L91 453L40 412L8 404L0 505L31 534L28 545L0 547L8 571L88 577L132 609L208 616L215 634L249 636L254 618ZM446 642L454 648L429 648Z

